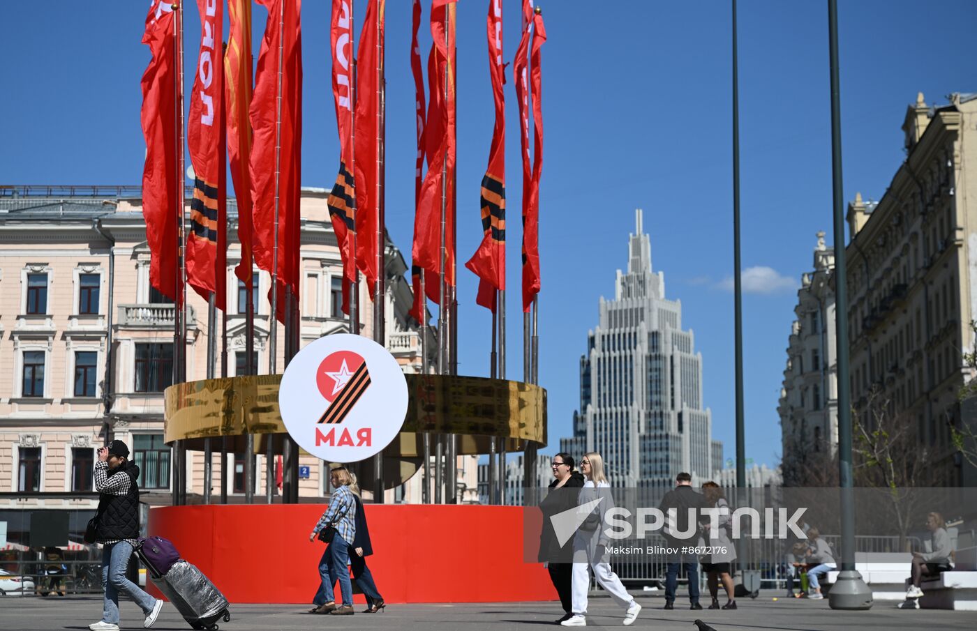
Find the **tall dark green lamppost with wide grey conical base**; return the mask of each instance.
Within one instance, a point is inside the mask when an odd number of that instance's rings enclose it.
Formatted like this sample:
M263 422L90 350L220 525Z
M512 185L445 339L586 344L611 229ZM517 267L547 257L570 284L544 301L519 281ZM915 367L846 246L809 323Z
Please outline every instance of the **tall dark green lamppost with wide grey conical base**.
M831 65L831 181L834 207L834 326L837 332L838 462L841 491L841 572L831 586L832 610L871 609L871 589L855 569L855 501L852 480L851 386L848 376L848 291L845 275L845 218L841 188L841 105L838 96L838 8L828 0Z

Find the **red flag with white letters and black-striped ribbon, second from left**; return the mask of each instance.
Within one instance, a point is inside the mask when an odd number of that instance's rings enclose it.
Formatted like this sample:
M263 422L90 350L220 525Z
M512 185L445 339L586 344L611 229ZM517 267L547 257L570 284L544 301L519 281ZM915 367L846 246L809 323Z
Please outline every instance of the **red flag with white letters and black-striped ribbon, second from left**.
M190 97L187 146L193 165L191 231L187 235L187 281L207 300L217 291L221 132L224 92L224 11L218 0L196 0L200 12L200 54ZM221 244L223 247L223 243Z

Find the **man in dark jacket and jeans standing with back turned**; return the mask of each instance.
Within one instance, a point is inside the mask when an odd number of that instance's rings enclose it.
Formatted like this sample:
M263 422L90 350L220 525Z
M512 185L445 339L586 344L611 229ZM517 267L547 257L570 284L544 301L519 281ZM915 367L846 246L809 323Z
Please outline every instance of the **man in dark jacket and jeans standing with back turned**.
M679 549L683 546L695 545L699 539L699 523L694 520L689 523L689 509L695 509L695 515L702 514L702 509L706 508L705 497L697 493L692 487L692 476L682 472L675 476L675 488L671 489L661 498L658 505L665 515L665 524L662 531L668 547L674 548L674 553L667 555L668 562L665 570L665 609L673 610L675 606L675 592L678 589L678 569L685 568L685 575L689 579L689 601L691 610L701 610L699 604L699 562L695 555L681 554ZM674 518L669 514L671 511Z

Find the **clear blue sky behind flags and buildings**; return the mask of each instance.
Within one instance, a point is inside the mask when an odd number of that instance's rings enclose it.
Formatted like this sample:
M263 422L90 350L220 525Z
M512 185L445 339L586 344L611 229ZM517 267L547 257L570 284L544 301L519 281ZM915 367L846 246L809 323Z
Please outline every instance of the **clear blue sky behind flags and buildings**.
M427 3L425 3L427 4ZM3 184L139 184L144 142L140 43L148 2L5 7L0 38ZM550 444L570 434L579 400L577 359L626 267L634 209L644 208L655 269L680 299L704 364L713 434L734 444L730 3L541 2L544 167L540 191L539 379L549 391ZM845 198L880 197L904 153L900 126L921 91L927 103L977 90L977 3L839 2ZM479 183L488 159L492 104L488 0L458 5L458 260L481 239ZM187 59L198 38L187 3ZM329 187L338 164L328 88L325 0L303 7L302 183ZM609 8L613 7L614 10ZM53 8L61 10L52 11ZM365 2L358 0L362 16ZM519 39L518 2L506 0L504 48ZM52 19L54 18L54 19ZM427 19L427 9L425 17ZM786 341L799 275L812 265L815 232L831 235L826 2L743 0L740 21L741 169L746 454L776 464ZM255 55L265 11L255 6ZM422 28L422 50L430 43ZM409 252L413 223L413 81L410 2L387 2L388 229ZM511 66L510 66L511 70ZM511 76L506 86L509 199L509 372L522 372L519 222L521 167ZM188 89L192 74L186 77ZM188 100L189 101L189 100ZM764 270L765 269L765 270ZM477 280L459 265L459 370L488 373L488 312ZM552 451L550 448L547 451Z

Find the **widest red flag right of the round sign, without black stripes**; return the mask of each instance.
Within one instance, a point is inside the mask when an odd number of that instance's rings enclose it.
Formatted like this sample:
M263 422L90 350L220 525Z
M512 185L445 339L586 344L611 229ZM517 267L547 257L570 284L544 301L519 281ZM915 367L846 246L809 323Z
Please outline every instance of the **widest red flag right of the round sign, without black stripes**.
M425 150L428 171L421 185L414 217L411 258L423 268L428 297L441 296L442 203L445 203L446 282L454 286L454 162L455 162L455 0L433 0L428 62L431 103L428 106ZM447 40L447 41L446 41ZM443 173L444 171L444 173Z

